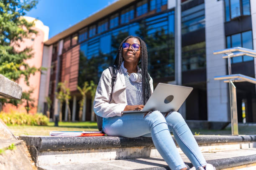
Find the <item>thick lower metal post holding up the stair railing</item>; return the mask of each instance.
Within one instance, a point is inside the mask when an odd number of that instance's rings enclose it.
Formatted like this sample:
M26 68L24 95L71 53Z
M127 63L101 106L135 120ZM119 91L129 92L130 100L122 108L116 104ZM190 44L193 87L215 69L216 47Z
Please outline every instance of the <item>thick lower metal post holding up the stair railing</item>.
M238 119L237 119L237 106L236 106L236 86L230 80L230 111L231 111L231 130L232 135L238 135Z

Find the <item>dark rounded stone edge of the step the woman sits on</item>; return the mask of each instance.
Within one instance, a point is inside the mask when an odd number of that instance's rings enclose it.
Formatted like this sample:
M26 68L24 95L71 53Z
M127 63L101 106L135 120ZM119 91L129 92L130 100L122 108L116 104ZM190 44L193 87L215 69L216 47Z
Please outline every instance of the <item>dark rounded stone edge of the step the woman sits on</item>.
M84 150L97 148L131 148L151 147L154 143L151 138L124 138L124 137L54 137L54 136L20 136L28 146L36 147L38 151L58 150ZM173 137L174 139L174 137ZM220 136L220 135L199 135L195 136L199 145L220 144L220 143L253 143L256 142L256 135L241 136ZM174 139L175 140L175 139Z

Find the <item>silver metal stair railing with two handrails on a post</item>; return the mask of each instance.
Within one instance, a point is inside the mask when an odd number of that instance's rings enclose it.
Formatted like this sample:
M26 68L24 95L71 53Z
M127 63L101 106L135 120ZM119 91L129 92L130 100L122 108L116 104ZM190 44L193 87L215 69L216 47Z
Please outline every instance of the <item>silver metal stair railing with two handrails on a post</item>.
M238 118L237 118L237 105L236 105L236 86L233 82L251 82L256 84L256 79L242 74L231 73L231 61L230 58L247 55L250 57L256 57L256 51L243 47L233 47L224 50L214 51L213 54L224 54L222 58L228 58L228 75L215 76L214 80L224 80L229 83L229 95L230 95L230 112L231 112L231 130L232 135L238 135Z

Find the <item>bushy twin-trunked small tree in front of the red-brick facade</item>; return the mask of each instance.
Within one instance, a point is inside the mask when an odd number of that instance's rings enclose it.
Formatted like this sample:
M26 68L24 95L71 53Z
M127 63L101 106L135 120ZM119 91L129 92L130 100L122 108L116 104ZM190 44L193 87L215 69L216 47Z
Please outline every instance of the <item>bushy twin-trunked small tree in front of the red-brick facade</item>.
M66 102L67 108L68 108L68 119L69 121L71 120L71 112L69 109L69 99L71 98L70 96L70 91L69 88L66 87L67 82L59 82L58 83L58 88L59 92L56 92L56 98L59 100L60 104L60 110L59 110L59 121L62 121L62 105L63 102Z

